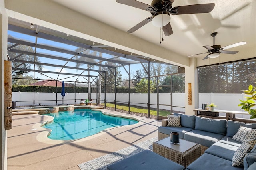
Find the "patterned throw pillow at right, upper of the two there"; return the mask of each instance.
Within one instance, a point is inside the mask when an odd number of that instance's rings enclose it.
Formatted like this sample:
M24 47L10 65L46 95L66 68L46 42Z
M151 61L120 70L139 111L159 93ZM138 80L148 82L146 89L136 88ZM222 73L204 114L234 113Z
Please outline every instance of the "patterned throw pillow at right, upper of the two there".
M254 139L256 137L256 129L240 126L233 139L238 142Z

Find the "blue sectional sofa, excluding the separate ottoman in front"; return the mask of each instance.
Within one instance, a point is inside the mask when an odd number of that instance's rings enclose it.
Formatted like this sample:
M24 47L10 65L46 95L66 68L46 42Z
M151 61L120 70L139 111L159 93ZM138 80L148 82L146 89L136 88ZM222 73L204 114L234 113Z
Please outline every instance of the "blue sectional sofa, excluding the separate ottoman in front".
M209 119L180 113L174 115L180 115L181 127L167 127L168 120L162 120L162 126L158 127L158 139L170 136L170 132L178 132L180 138L201 144L202 156L192 162L187 167L188 170L256 170L256 145L244 158L244 166L232 166L234 153L242 144L232 137L240 126L256 129L256 123Z

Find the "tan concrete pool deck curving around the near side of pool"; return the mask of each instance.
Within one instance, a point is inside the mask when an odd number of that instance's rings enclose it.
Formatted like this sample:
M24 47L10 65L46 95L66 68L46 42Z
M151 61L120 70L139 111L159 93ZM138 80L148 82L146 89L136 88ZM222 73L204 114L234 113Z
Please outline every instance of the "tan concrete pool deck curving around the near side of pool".
M8 170L80 170L78 164L158 136L160 121L106 109L99 110L134 117L140 122L110 128L78 140L49 142L40 137L42 133L47 134L48 130L38 128L36 124L51 118L38 114L13 115L13 128L7 131Z

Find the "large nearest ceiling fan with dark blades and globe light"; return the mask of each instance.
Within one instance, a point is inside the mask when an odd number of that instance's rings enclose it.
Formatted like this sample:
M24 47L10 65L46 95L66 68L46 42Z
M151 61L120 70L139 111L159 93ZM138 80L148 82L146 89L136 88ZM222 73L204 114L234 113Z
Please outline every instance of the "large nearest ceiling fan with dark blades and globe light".
M208 13L211 12L215 6L214 3L210 3L176 6L172 8L174 0L153 0L151 2L151 5L144 4L136 0L116 0L116 2L149 11L152 15L137 24L136 26L132 27L127 32L132 33L152 21L152 24L154 26L162 27L165 36L170 36L173 33L170 24L170 14L180 15Z

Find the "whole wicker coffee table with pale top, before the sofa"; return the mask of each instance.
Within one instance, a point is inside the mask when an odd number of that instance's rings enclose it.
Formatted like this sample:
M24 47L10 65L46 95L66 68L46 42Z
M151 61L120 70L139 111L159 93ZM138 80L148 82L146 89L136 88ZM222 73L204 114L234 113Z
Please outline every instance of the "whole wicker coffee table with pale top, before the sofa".
M180 139L180 144L170 143L170 137L153 143L153 152L185 168L201 156L201 145Z

